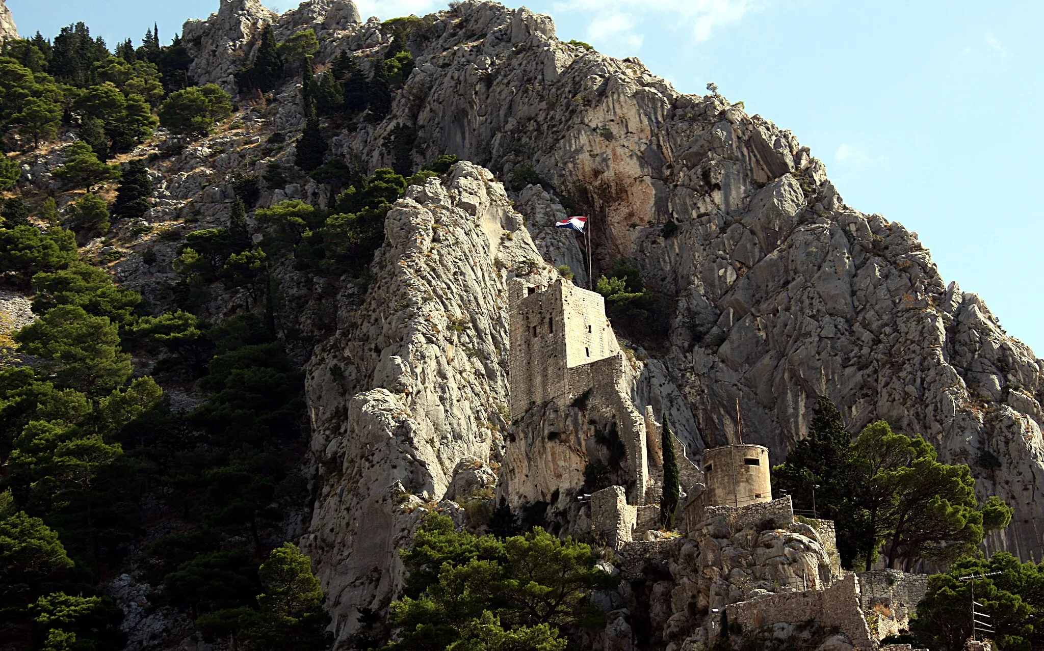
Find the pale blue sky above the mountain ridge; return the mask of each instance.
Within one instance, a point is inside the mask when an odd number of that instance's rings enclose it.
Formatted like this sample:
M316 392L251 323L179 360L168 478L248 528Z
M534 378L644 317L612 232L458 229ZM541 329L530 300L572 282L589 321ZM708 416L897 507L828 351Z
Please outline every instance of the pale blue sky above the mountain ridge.
M271 9L296 2L270 0ZM359 0L363 18L434 0ZM506 2L512 6L517 2ZM7 0L23 34L86 22L110 45L169 41L217 0ZM1044 355L1044 2L530 0L557 34L638 56L682 92L708 82L793 131L846 203L920 235L944 280Z

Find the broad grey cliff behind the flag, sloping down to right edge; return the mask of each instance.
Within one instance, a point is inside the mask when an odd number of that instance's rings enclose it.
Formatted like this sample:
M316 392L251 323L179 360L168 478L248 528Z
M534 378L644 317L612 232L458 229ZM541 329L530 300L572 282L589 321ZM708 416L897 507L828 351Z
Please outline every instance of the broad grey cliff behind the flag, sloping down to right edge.
M738 400L746 440L781 460L826 393L853 433L885 418L971 463L980 493L1016 509L988 547L1044 553L1041 362L943 281L916 234L846 204L789 131L562 43L547 17L467 2L429 20L392 116L337 138L338 153L387 165L408 124L417 161L448 151L502 178L533 167L561 197L520 196L542 252L580 258L546 235L568 203L592 216L596 273L631 257L672 299L659 359L705 444L733 435Z

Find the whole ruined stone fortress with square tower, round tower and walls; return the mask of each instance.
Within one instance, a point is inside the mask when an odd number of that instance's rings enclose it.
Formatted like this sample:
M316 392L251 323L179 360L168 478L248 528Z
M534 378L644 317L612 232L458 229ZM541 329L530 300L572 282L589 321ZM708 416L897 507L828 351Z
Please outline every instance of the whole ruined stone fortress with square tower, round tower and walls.
M722 445L693 460L672 437L681 535L661 531L663 426L652 406L644 413L636 407L633 366L604 299L564 279L516 279L508 302L513 433L499 490L517 506L545 502L560 513L572 508L579 523L572 531L589 527L613 550L624 579L670 575L669 584L661 581L664 587L647 597L663 602L648 605L650 611L669 613L660 622L665 642L668 635L682 641L669 644L669 651L712 644L722 611L744 630L815 620L848 641L831 649L878 649L883 637L907 626L924 595L924 577L844 572L833 523L796 514L789 496L773 499L764 447ZM618 436L621 471L612 485L584 495L588 473L575 466L598 462L591 441L606 432ZM607 631L626 637L628 614L621 612L630 610L609 613ZM606 648L626 644L607 641Z

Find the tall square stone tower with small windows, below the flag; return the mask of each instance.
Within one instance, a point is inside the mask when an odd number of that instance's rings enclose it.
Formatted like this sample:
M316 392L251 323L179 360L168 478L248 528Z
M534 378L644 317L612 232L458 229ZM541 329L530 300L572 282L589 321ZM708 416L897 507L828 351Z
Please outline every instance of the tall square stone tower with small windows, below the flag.
M601 294L557 280L549 287L516 279L509 287L512 417L555 401L567 406L621 376L620 345Z

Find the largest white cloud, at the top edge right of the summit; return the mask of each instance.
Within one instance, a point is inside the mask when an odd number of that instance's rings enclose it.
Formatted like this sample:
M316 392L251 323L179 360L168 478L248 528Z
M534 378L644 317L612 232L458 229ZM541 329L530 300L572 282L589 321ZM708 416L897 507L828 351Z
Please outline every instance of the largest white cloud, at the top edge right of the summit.
M591 16L588 37L595 42L623 43L641 47L645 34L640 30L646 19L660 25L688 29L696 43L708 41L713 32L738 22L748 13L760 9L768 0L562 0L555 11L577 11ZM662 27L660 27L662 29Z

